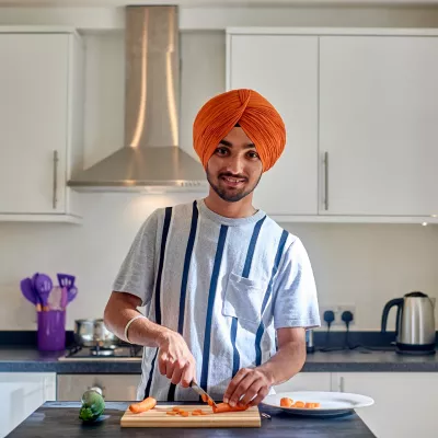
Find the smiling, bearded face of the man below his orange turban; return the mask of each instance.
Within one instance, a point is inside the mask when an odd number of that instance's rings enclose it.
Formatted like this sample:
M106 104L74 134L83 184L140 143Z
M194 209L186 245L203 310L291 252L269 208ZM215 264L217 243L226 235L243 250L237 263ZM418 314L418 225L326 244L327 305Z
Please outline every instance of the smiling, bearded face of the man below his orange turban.
M240 127L223 138L207 164L212 189L229 203L251 194L262 177L263 166L254 143Z

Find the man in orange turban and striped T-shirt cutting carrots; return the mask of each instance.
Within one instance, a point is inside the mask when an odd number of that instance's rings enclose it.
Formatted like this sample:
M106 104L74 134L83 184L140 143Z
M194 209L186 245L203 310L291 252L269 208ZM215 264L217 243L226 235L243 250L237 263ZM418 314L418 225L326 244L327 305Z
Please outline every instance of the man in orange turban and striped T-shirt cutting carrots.
M285 148L285 125L266 99L243 89L208 101L193 134L209 194L145 221L105 324L145 346L139 400L197 401L187 388L195 380L217 401L257 405L300 371L306 330L320 325L301 241L252 205Z

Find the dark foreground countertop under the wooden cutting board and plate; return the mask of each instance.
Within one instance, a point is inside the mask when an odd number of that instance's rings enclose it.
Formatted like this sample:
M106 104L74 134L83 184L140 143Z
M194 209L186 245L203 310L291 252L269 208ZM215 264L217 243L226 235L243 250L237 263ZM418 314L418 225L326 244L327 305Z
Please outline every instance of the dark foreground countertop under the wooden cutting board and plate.
M300 417L280 410L261 405L261 412L272 415L272 419L262 418L260 428L122 428L120 418L128 403L107 402L103 420L93 425L83 425L78 418L80 403L47 402L30 415L8 437L348 437L371 438L368 429L357 414L336 418Z

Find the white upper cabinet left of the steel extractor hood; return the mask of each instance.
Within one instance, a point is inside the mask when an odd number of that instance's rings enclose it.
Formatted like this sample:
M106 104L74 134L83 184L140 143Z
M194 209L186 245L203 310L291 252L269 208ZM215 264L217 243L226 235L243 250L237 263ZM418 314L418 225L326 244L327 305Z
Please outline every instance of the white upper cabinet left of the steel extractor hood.
M82 50L72 32L0 27L0 220L79 220Z

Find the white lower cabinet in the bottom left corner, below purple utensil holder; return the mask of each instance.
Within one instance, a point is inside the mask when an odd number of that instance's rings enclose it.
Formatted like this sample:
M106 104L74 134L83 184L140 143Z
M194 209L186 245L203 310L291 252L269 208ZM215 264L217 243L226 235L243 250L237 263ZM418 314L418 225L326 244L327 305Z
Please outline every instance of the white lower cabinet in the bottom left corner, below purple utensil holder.
M56 374L0 372L0 437L5 437L43 403L56 400Z

